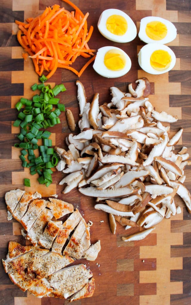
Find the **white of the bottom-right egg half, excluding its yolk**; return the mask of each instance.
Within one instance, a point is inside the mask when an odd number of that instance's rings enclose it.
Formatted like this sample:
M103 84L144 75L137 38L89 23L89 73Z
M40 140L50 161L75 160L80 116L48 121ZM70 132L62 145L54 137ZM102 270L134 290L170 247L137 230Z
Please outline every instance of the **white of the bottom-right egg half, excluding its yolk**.
M156 70L150 65L150 56L156 50L164 50L171 55L172 61L167 69ZM138 62L140 67L147 73L163 74L165 72L170 71L175 66L176 56L175 53L167 45L161 45L159 43L149 43L147 45L144 45L143 48L140 49L138 54Z

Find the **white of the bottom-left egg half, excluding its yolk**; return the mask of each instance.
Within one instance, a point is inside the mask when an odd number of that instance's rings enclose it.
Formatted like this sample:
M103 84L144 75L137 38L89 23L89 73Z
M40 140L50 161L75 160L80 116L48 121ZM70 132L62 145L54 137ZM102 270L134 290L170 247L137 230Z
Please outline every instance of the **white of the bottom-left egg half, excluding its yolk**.
M112 49L119 50L120 52L123 53L123 55L126 58L126 65L122 70L113 71L113 70L108 69L104 64L105 54L109 50L112 50ZM122 49L117 48L117 47L112 47L112 46L106 46L106 47L99 48L97 50L93 68L99 75L101 75L103 77L108 77L108 78L121 77L121 76L125 75L127 72L129 72L129 70L131 68L131 59Z

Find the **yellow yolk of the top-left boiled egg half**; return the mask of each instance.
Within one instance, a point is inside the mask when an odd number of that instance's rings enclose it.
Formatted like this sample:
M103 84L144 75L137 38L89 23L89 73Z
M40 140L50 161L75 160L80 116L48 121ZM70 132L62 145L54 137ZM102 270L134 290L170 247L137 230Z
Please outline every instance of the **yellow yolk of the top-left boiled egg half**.
M112 34L122 36L127 31L127 21L123 16L111 15L106 21L106 27Z

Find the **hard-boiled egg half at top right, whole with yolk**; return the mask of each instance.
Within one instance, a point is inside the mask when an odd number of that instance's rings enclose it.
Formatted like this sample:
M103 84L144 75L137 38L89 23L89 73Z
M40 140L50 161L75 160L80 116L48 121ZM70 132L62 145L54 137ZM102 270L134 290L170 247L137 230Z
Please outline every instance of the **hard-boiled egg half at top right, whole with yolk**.
M148 16L141 19L138 36L146 43L165 44L176 38L176 28L172 22L164 18Z

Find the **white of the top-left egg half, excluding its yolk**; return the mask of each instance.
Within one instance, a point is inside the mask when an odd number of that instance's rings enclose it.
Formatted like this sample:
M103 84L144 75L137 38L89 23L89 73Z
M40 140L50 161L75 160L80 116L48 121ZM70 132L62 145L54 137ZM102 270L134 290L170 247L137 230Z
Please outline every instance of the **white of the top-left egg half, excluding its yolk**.
M127 21L127 31L124 35L115 35L112 34L110 31L108 31L107 27L106 27L106 21L107 19L112 16L112 15L120 15L122 17L124 17ZM123 11L121 11L120 9L106 9L101 13L101 16L98 20L98 24L97 24L98 30L100 31L100 33L107 39L111 40L111 41L115 41L115 42L120 42L120 43L125 43L125 42L129 42L132 41L137 34L137 29L136 29L136 25L133 22L133 20Z

